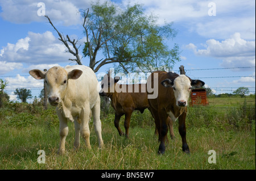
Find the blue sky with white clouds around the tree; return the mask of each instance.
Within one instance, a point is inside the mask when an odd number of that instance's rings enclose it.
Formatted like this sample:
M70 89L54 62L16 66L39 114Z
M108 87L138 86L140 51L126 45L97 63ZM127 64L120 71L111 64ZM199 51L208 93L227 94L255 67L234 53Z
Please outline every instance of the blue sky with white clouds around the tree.
M90 1L0 0L0 78L8 82L6 92L11 100L17 100L16 88L25 87L33 96L39 95L43 83L29 76L29 70L75 65L47 19L38 16L39 2L45 4L46 15L60 32L81 39L81 44L85 39L77 10L87 9ZM177 36L166 43L170 47L177 43L182 51L174 70L184 65L189 77L200 78L216 94L232 93L241 86L251 87L251 94L255 93L255 1L112 2L119 6L139 3L145 14L158 16L159 25L173 22ZM88 59L83 58L82 64L88 65ZM98 73L111 67L103 66ZM254 68L229 69L241 67Z

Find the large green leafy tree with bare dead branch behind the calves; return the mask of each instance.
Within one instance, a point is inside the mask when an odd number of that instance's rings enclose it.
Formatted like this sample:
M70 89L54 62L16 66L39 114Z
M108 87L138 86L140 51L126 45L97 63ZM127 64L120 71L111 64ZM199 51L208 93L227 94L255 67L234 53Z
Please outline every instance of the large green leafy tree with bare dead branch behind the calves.
M157 17L144 14L141 5L119 7L109 1L94 2L82 14L86 41L82 48L83 57L89 58L89 67L97 72L102 66L114 64L117 71L170 70L180 61L179 46L169 48L167 40L176 36L172 23L159 26ZM49 19L52 27L51 20ZM59 40L81 65L78 40L64 37L59 31Z

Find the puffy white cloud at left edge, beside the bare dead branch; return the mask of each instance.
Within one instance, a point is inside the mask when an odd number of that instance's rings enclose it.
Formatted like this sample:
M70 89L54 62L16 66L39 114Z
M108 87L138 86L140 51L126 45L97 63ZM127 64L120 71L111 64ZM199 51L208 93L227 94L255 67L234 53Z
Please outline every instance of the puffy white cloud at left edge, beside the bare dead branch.
M15 44L8 43L1 52L0 61L27 64L56 64L69 62L69 58L73 58L65 45L49 31L28 32L27 37L19 39Z

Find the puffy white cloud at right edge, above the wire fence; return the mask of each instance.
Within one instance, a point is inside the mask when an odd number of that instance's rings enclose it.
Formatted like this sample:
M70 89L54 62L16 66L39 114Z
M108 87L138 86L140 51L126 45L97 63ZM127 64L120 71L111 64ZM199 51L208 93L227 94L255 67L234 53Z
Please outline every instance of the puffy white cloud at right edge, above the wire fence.
M198 49L190 43L186 48L192 49L197 56L221 58L222 66L255 66L255 41L241 39L240 33L234 33L230 39L218 41L210 39L204 45L205 49Z

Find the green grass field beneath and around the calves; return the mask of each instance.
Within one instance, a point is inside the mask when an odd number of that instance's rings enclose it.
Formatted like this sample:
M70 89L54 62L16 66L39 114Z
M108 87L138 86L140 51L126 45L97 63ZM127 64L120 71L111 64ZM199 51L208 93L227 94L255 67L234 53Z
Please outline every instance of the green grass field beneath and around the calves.
M213 104L214 102L214 104ZM120 137L114 127L113 110L101 113L105 148L98 149L90 123L92 149L81 138L73 150L74 125L69 123L67 154L58 155L59 126L53 108L44 111L33 104L6 103L0 108L0 169L255 169L255 98L209 100L209 106L188 108L187 142L191 154L184 154L174 125L175 139L164 155L158 155L158 138L148 110L134 112L130 138ZM236 105L236 107L234 107ZM222 107L222 108L216 108ZM223 107L230 107L224 110ZM121 120L123 128L123 119ZM38 163L44 150L46 163ZM216 163L209 163L209 150L216 151Z

